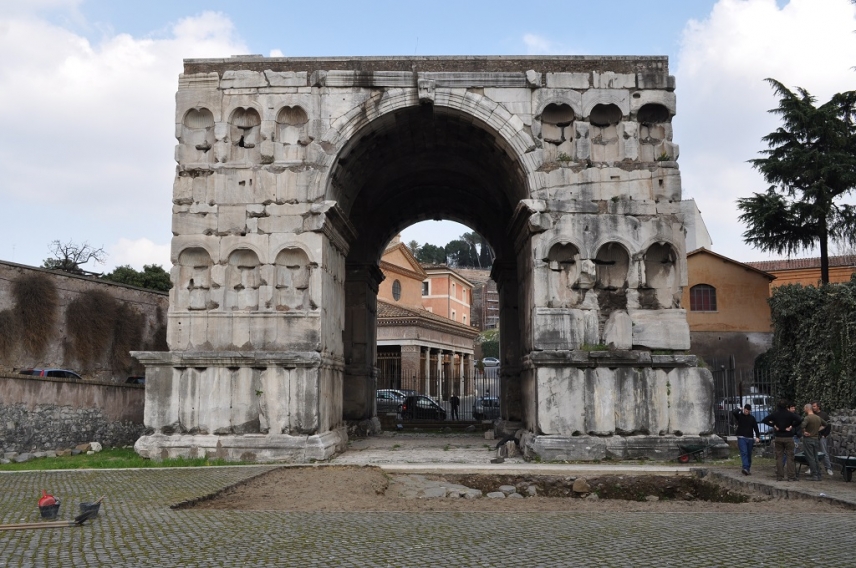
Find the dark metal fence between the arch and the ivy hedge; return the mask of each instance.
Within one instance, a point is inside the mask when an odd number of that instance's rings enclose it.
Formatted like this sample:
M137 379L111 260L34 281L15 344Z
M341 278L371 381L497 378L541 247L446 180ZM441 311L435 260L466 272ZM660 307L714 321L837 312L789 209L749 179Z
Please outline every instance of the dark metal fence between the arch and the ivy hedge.
M727 361L732 363L732 361ZM751 405L751 413L758 422L767 416L776 406L776 385L769 371L760 369L734 369L731 365L717 364L714 361L714 431L720 436L732 436L737 427L733 413L742 411L746 404ZM761 437L769 441L767 427L761 428Z

